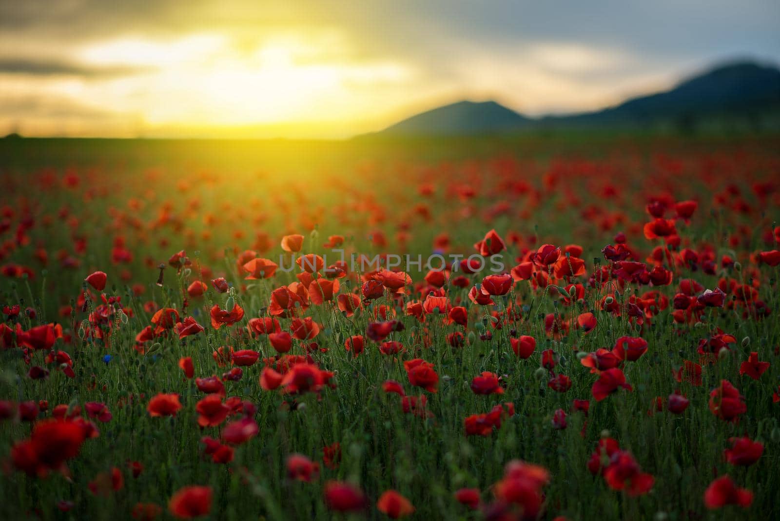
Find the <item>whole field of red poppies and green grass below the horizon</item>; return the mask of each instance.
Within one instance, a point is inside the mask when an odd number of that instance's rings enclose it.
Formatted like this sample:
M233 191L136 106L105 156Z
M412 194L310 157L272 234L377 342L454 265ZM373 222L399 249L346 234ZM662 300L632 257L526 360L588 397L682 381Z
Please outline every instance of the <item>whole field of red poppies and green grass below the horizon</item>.
M778 519L778 145L5 140L2 519Z

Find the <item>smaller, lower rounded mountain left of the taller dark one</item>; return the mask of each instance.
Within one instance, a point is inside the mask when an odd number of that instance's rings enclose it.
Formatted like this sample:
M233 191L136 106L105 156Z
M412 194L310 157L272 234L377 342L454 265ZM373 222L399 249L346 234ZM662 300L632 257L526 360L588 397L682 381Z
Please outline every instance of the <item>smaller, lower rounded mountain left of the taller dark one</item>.
M531 121L495 101L459 101L413 115L381 133L407 136L502 133L522 128Z

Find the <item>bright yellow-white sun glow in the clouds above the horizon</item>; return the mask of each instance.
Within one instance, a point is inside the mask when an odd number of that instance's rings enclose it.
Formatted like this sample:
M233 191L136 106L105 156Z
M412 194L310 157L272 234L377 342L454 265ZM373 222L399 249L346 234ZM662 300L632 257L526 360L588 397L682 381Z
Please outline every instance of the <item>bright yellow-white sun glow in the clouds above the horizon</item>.
M339 136L339 122L373 129L369 118L382 97L413 75L400 62L361 59L329 33L271 35L250 45L221 34L122 38L90 44L77 58L84 67L131 73L55 78L39 88L133 118L147 135L305 137L330 126Z

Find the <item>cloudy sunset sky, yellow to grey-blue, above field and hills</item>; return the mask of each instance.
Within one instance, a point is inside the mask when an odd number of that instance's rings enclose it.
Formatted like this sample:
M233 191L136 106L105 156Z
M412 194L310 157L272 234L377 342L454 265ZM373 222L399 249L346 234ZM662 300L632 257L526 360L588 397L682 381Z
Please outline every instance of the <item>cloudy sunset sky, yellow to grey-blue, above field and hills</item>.
M0 134L343 137L452 101L539 115L780 62L780 2L0 2Z

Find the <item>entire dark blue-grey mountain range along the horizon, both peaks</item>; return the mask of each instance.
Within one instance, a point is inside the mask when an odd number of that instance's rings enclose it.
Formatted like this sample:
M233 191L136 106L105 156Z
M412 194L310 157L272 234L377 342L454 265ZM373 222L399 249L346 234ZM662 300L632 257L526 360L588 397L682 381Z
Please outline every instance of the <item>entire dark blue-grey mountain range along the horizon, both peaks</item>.
M634 97L596 112L518 114L495 101L461 101L414 115L381 134L466 135L572 126L695 126L711 119L757 120L780 113L780 70L755 62L731 62L658 94Z

